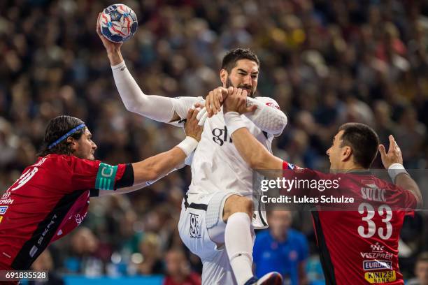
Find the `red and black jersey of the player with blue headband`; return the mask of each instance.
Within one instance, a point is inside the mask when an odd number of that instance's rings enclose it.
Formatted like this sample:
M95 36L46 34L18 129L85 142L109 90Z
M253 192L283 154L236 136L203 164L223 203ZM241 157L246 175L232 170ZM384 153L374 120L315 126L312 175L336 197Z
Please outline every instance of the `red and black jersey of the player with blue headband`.
M58 154L39 158L0 199L0 268L28 270L50 242L83 221L90 196L133 183L130 164Z

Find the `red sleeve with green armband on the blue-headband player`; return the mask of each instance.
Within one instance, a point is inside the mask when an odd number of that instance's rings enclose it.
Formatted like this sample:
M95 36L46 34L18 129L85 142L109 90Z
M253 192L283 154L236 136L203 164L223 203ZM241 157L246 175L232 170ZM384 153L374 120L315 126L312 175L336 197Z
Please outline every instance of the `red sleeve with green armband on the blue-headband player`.
M115 189L115 183L124 174L126 165L110 166L101 161L91 161L70 156L71 185L73 189Z

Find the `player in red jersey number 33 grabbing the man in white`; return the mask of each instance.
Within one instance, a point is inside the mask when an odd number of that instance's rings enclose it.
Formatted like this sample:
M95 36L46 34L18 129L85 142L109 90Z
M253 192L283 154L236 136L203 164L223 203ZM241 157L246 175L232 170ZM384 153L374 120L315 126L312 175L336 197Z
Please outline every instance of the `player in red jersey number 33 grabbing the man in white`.
M369 126L344 124L327 150L331 171L320 173L273 156L255 140L239 115L248 111L245 103L245 91L229 89L223 105L224 120L236 149L251 168L273 179L338 179L334 191L355 199L352 210L320 210L315 204L317 210L312 212L326 283L404 284L398 265L399 233L406 214L413 214L422 205L422 196L402 165L394 138L390 136L386 152ZM378 150L394 184L369 172ZM301 194L315 197L320 193L318 189L303 189Z

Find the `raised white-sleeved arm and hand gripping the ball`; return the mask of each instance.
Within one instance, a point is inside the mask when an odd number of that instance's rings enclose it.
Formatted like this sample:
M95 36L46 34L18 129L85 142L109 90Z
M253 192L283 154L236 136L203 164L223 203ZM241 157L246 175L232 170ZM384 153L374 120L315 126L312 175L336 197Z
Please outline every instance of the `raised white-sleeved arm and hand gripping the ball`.
M99 21L97 21L97 34L103 42L104 47L106 47L115 85L127 110L158 122L169 123L184 119L187 115L187 110L194 103L201 101L201 98L196 97L182 97L178 99L144 94L124 63L120 52L122 43L108 41L101 34Z

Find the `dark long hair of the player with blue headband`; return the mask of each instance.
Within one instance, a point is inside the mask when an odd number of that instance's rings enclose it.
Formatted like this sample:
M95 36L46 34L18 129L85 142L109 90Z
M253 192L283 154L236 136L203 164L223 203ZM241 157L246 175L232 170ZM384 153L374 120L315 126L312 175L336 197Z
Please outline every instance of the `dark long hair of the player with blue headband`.
M64 136L68 131L80 124L85 124L81 119L71 116L58 116L53 119L50 119L48 126L46 126L45 137L43 138L43 145L41 147L40 152L38 152L38 156L46 156L48 154L66 154L71 155L71 146L70 143L67 142L66 139L59 142L52 148L49 146L52 142L55 142L57 139ZM71 134L71 138L78 140L83 133L85 133L85 129L80 129L75 133Z

